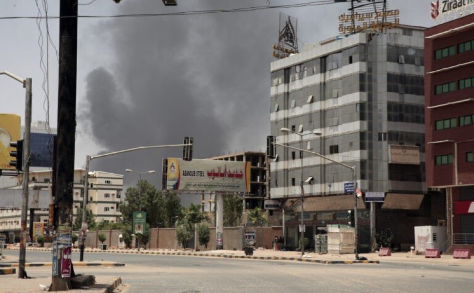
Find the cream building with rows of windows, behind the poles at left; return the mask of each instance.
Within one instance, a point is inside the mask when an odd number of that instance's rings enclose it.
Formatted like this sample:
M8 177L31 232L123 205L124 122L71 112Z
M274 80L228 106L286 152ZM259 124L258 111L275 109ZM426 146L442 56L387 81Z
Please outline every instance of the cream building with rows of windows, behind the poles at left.
M82 208L84 199L84 178L85 169L74 170L74 190L73 190L73 221L77 215L77 210ZM19 177L16 189L22 188L22 178ZM102 171L89 172L89 188L87 209L91 210L96 221L118 222L122 213L119 210L122 203L123 175ZM32 171L29 173L29 189L50 189L51 171ZM27 225L29 227L29 212ZM19 239L21 229L21 209L1 209L0 208L0 232L9 236L9 241L13 238ZM49 214L47 209L34 211L34 222L48 222Z

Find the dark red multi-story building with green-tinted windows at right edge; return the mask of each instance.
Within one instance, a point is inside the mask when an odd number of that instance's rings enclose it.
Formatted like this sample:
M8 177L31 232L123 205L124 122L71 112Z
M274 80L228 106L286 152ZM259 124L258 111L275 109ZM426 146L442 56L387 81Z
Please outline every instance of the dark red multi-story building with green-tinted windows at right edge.
M474 14L425 31L426 183L446 191L450 244L474 250Z

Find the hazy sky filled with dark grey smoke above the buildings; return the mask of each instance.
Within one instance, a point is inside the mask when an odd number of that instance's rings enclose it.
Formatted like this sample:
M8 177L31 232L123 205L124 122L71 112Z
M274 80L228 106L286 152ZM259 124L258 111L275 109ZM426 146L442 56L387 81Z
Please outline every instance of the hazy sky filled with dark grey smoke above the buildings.
M92 2L91 2L92 1ZM320 0L319 0L320 1ZM59 1L47 1L48 16ZM89 5L81 5L91 2ZM229 9L318 2L314 0L79 0L78 14L118 15ZM431 0L392 0L403 24L435 25ZM39 8L38 8L38 6ZM87 154L137 146L180 144L194 137L194 158L264 150L270 131L270 63L278 41L279 13L298 18L300 46L338 34L348 4L264 9L251 12L79 19L76 167ZM0 1L0 18L45 15L42 0ZM57 127L59 20L0 20L0 71L33 78L33 121ZM42 44L42 49L40 49ZM49 63L47 62L49 56ZM43 63L43 66L41 64ZM47 66L49 65L49 66ZM48 83L42 71L49 69ZM49 68L46 68L49 67ZM0 76L1 113L24 121L24 89ZM91 169L125 173L155 169L147 178L161 186L162 159L181 148L148 150L93 161ZM126 182L135 181L132 174Z

